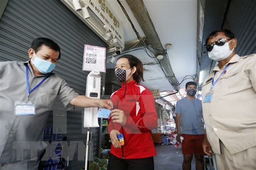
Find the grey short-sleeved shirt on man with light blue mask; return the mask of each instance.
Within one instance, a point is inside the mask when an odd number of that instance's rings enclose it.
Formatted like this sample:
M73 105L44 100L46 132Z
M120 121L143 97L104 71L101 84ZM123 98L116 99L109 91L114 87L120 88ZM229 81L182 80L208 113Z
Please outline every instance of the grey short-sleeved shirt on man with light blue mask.
M30 146L29 142L43 141L47 117L57 95L66 108L72 107L70 101L78 96L63 79L50 73L51 76L30 94L29 100L36 103L36 115L15 116L14 102L27 98L26 65L29 66L31 90L45 75L35 77L28 62L0 62L0 163L30 159L31 150L24 149L23 155L17 155L15 143L21 142L21 145L27 144L27 148L31 148L33 146ZM44 147L37 149L40 156Z

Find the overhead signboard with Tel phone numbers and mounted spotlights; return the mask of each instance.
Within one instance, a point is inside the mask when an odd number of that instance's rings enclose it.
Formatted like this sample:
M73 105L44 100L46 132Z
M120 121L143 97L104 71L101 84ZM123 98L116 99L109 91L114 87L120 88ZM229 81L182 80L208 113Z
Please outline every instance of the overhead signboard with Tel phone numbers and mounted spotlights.
M107 0L75 0L78 2L76 4L81 6L78 9L74 7L73 0L60 1L99 35L109 47L124 49L123 24Z

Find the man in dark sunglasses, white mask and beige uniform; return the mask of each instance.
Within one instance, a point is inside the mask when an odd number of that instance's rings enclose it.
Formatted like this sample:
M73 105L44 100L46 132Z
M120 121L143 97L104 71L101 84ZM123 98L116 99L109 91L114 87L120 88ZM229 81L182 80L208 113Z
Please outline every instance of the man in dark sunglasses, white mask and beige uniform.
M218 62L204 80L204 152L216 154L218 170L256 169L256 54L235 54L230 30L206 38L209 58ZM242 141L242 142L241 142Z

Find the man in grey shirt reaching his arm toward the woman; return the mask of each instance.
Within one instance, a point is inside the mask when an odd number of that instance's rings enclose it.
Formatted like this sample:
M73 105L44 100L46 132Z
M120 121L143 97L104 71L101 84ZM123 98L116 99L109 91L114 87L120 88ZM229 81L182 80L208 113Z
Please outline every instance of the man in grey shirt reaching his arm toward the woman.
M37 170L38 155L31 147L43 141L45 124L57 95L67 109L101 107L111 109L111 100L79 95L52 71L60 58L60 47L48 38L33 40L27 62L0 63L0 169ZM27 148L18 153L19 144ZM30 144L29 144L30 142ZM32 144L33 143L33 144Z

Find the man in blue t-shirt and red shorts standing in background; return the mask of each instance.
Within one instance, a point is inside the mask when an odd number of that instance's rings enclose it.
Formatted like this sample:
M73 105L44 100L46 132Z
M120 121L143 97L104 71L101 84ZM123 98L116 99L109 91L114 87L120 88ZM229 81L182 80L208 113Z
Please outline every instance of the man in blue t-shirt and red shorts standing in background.
M186 98L180 99L175 106L177 137L182 136L183 170L191 170L193 154L196 159L196 169L204 170L202 142L204 139L204 122L201 100L194 97L197 93L195 82L186 83Z

